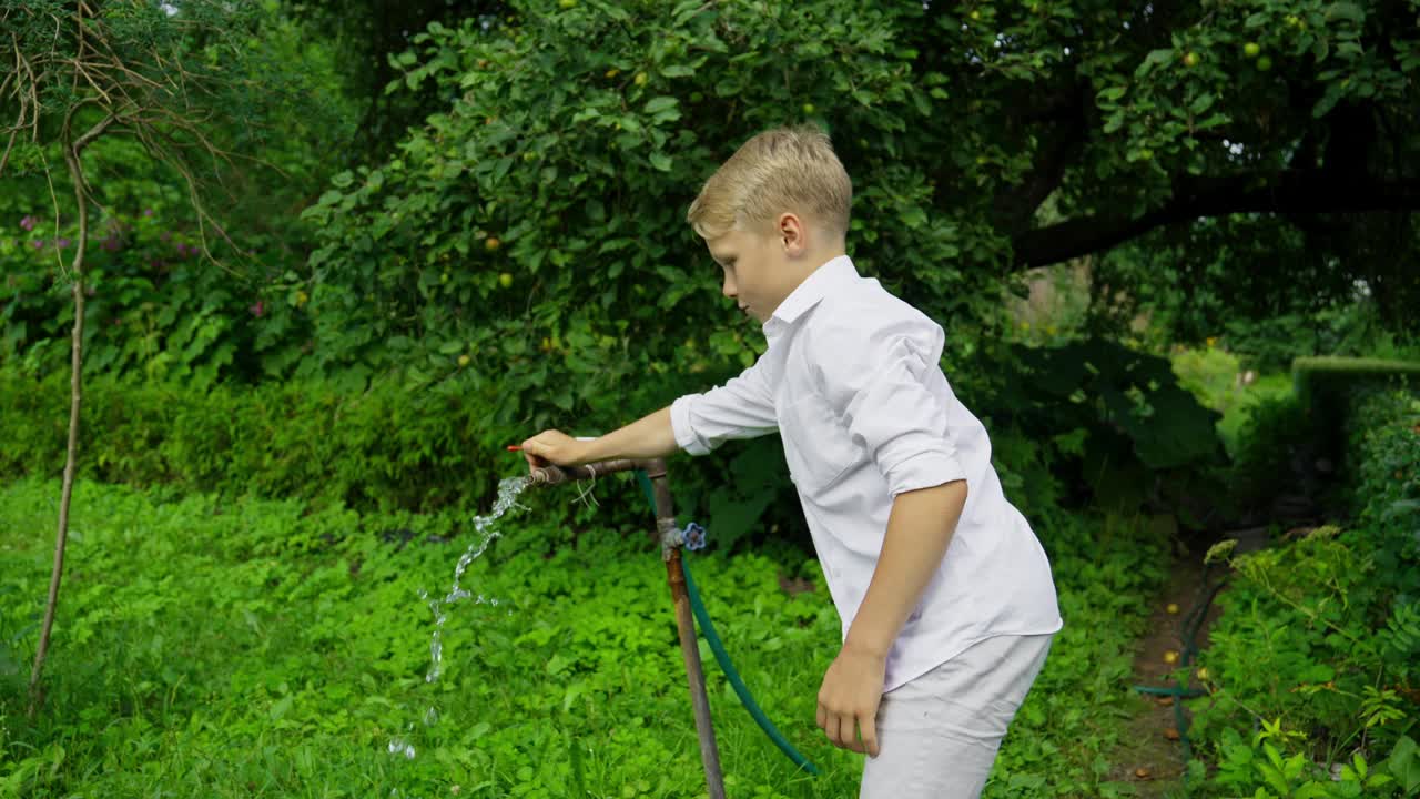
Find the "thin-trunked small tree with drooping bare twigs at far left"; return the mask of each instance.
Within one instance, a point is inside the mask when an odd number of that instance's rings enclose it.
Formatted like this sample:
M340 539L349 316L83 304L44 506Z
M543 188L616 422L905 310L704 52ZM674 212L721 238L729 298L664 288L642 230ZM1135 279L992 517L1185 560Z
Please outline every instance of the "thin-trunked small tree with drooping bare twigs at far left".
M43 172L53 186L57 151L74 199L72 205L61 203L51 189L55 232L65 222L61 206L77 219L67 270L61 260L67 246L54 242L55 269L68 280L74 303L71 397L54 569L30 678L31 715L43 704L41 675L64 573L80 448L92 205L84 154L101 136L141 142L156 165L182 178L202 249L212 257L209 242L224 233L207 210L206 188L220 178L233 154L219 146L210 131L223 119L250 119L253 105L246 92L251 85L233 77L243 74L237 67L246 58L241 31L248 21L248 10L226 3L0 3L0 30L9 38L0 43L0 118L9 119L0 128L0 175L14 158L16 166Z

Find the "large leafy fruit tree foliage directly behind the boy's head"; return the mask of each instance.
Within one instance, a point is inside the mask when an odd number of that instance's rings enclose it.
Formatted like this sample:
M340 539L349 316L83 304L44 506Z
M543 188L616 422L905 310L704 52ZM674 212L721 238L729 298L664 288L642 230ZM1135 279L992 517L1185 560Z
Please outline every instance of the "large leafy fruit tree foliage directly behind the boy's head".
M763 340L731 321L684 212L737 144L807 119L832 119L855 178L859 267L947 321L949 351L968 357L1000 280L967 283L957 262L1000 242L930 213L929 168L906 152L944 95L893 44L920 9L514 6L517 26L415 37L403 84L433 84L447 112L307 210L321 246L302 374L422 384L466 354L498 370L500 408L601 428L734 374ZM829 45L835 30L852 36Z

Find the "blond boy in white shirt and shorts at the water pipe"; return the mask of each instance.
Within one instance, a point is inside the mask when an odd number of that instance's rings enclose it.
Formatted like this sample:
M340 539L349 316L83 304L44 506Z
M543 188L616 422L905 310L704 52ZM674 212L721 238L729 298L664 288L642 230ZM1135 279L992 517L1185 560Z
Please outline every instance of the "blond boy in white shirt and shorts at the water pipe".
M845 254L851 198L822 132L746 142L687 220L768 350L622 429L545 431L523 452L530 465L703 455L778 431L843 621L818 726L869 755L862 798L973 798L1061 628L1055 586L985 429L941 374L941 327Z

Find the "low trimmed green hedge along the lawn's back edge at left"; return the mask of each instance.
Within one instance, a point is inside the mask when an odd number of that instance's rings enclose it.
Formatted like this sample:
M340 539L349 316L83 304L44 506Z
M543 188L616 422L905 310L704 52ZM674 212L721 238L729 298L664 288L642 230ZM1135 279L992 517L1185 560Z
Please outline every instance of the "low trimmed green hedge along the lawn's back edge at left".
M68 377L0 370L0 473L64 463ZM195 390L109 375L88 381L80 472L133 485L413 509L487 499L507 424L457 391L321 384Z

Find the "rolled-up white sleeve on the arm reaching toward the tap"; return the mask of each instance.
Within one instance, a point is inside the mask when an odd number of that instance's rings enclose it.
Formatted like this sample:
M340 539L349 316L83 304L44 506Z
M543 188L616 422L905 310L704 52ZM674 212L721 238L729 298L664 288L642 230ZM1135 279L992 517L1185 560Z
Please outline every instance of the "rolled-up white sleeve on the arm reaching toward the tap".
M760 361L724 385L676 398L670 427L676 444L690 455L704 455L730 439L778 431L774 397Z

